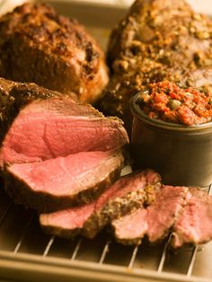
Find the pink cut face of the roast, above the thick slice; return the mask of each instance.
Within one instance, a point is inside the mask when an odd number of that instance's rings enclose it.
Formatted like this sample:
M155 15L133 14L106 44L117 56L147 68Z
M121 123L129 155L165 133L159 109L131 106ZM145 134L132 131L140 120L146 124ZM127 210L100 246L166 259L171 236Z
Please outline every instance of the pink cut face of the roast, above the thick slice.
M105 118L92 106L69 97L56 97L31 101L20 111L4 137L0 159L32 163L126 144L128 135L119 119Z

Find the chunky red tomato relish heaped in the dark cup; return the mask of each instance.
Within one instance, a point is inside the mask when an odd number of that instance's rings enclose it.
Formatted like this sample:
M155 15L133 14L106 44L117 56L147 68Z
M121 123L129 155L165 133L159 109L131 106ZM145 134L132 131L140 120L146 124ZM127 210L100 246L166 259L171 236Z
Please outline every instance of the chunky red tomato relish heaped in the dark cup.
M192 126L212 119L212 98L194 88L164 81L149 84L137 97L147 117Z

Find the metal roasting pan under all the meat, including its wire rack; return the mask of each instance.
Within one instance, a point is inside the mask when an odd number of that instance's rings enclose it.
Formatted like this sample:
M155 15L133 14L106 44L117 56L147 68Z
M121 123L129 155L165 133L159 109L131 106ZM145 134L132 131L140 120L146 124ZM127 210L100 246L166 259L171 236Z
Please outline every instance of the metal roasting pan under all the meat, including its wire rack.
M3 1L0 9L5 12ZM127 13L126 8L107 4L47 2L53 4L58 13L83 22L104 49L111 28ZM38 217L32 211L15 206L4 189L0 189L0 280L212 281L212 242L173 252L168 241L122 246L105 231L93 240L55 238L43 234Z

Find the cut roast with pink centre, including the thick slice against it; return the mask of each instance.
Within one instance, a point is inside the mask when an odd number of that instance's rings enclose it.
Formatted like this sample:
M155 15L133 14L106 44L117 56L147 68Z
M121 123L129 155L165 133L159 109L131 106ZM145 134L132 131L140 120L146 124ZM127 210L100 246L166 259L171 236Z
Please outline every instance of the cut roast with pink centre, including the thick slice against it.
M0 165L16 202L70 207L119 178L128 144L119 119L36 84L0 79L0 92Z

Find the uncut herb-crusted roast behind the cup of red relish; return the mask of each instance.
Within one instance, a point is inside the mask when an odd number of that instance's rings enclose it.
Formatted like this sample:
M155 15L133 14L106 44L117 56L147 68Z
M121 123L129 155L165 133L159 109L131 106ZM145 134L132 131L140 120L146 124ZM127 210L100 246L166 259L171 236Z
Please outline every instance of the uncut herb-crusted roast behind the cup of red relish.
M169 80L212 90L212 21L184 0L137 0L110 35L110 84L98 103L131 132L129 101L147 84Z

